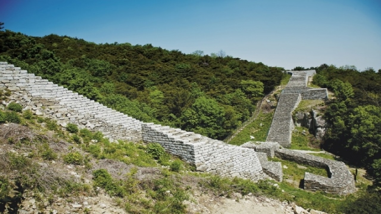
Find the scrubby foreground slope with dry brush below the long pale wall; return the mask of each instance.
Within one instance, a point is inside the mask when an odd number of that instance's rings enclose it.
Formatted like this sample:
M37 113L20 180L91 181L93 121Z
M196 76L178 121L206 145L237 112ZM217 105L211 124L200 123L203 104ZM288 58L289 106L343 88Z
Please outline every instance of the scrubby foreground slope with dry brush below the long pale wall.
M295 203L338 213L350 210L355 199L307 192L284 182L195 172L158 144L110 143L99 132L76 125L61 128L20 107L0 110L4 213L247 214L255 209L290 214L301 209Z

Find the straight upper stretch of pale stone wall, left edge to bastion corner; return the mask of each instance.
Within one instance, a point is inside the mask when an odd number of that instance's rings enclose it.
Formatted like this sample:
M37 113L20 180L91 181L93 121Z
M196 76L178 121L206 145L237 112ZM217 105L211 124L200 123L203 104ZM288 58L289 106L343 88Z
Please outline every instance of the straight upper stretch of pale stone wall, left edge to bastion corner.
M73 93L19 67L0 62L0 88L13 92L11 99L65 125L77 123L101 131L110 139L141 140L141 122Z

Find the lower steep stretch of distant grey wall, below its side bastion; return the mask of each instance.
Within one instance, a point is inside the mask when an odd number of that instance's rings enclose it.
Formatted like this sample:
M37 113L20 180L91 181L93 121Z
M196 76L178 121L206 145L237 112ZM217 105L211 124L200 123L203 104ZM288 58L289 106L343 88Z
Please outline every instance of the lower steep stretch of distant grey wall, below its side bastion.
M300 94L280 94L269 133L267 134L267 142L278 142L283 147L291 146L291 133L294 129L292 112L300 101Z

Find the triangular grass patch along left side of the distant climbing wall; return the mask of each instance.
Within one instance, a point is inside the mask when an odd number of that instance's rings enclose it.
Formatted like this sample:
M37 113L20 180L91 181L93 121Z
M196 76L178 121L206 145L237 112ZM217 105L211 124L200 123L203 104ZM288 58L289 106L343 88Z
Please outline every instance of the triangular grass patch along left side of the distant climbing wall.
M240 133L238 133L229 144L242 145L248 141L266 141L267 133L271 126L272 116L271 113L259 113L257 119L247 125ZM260 124L262 123L262 126ZM250 136L254 136L255 139L250 139Z

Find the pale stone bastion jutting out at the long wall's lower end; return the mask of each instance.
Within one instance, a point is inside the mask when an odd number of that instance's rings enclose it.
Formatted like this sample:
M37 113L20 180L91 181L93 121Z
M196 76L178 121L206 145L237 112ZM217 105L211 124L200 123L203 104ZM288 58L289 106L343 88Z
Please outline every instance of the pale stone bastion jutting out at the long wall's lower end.
M194 164L197 171L251 180L267 177L254 150L153 123L143 123L142 132L144 142L159 143L166 151Z

